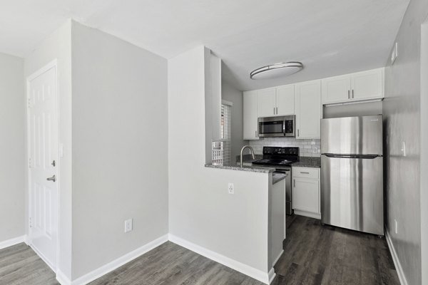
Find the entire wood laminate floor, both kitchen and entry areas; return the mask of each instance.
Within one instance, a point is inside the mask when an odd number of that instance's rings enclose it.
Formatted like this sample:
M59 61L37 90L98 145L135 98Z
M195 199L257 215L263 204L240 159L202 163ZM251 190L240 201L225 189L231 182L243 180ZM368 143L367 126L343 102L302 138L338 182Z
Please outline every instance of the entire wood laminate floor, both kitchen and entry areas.
M287 217L284 252L273 285L399 285L384 239ZM54 272L25 244L0 250L0 284L58 284ZM91 285L261 285L238 271L165 242Z

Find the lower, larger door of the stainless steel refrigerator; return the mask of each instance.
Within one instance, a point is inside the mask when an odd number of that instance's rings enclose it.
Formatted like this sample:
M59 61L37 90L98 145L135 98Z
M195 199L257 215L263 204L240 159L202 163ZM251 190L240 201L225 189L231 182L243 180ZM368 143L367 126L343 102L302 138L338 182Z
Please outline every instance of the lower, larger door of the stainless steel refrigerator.
M321 155L322 222L383 235L382 168L382 157Z

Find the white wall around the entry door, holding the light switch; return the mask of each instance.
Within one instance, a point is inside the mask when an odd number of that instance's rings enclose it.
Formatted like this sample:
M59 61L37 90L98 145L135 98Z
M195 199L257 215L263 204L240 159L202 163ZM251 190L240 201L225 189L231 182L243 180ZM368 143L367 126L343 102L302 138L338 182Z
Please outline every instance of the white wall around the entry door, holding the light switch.
M59 143L63 144L63 157L59 157L58 161L60 255L57 265L65 276L71 278L71 21L66 21L26 56L25 77L31 76L54 59L58 61ZM26 147L24 149L26 150ZM26 209L28 209L28 190L26 191ZM28 223L26 223L26 232L28 232Z

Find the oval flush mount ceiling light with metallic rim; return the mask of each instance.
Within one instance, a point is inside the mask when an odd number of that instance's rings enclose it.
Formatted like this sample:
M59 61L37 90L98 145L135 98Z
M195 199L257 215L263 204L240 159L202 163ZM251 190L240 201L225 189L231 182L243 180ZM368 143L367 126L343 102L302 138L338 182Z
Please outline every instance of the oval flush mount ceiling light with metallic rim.
M287 63L275 63L270 66L263 66L251 71L251 79L267 79L282 76L290 76L297 71L302 70L303 64L298 61L290 61Z

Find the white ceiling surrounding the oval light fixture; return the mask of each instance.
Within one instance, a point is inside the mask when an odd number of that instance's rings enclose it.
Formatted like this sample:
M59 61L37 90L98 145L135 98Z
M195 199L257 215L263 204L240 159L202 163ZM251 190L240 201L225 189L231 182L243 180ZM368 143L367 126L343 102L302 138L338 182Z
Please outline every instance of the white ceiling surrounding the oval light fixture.
M170 58L204 44L240 90L384 66L409 0L0 0L0 51L26 56L66 19ZM287 78L255 68L302 61Z

